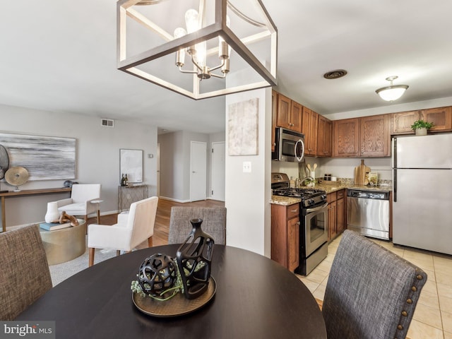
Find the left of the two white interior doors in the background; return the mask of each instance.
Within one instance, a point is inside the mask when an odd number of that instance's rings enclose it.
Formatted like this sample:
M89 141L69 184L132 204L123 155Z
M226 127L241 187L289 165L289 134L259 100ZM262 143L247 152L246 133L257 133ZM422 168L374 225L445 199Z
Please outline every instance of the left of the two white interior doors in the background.
M207 143L191 141L190 145L190 201L206 200Z

